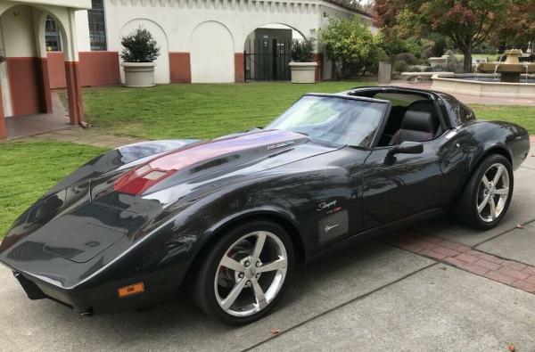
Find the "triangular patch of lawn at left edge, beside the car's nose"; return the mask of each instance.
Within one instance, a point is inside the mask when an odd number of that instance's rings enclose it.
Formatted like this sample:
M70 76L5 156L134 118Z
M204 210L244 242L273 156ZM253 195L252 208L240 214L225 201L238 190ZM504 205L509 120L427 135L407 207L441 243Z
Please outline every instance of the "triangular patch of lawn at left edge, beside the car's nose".
M103 151L74 143L0 143L0 238L53 184Z

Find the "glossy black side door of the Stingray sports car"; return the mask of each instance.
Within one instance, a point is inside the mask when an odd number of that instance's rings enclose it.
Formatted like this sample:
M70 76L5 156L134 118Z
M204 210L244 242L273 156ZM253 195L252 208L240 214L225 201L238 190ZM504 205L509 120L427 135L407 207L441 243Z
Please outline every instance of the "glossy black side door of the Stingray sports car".
M448 206L465 176L467 137L447 131L419 154L374 148L363 170L364 229Z

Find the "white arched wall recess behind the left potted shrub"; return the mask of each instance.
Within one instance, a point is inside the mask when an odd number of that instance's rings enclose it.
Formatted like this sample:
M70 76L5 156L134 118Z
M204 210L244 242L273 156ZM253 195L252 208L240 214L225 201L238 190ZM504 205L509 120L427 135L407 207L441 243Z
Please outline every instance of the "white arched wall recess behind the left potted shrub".
M130 31L143 26L148 29L156 42L160 45L160 56L156 59L156 67L154 68L154 82L157 84L168 84L170 82L169 73L169 38L166 31L160 24L154 20L144 17L138 17L133 20L128 20L119 30L118 42L120 38L127 35ZM121 59L122 62L122 59ZM120 72L121 80L124 82L124 72Z

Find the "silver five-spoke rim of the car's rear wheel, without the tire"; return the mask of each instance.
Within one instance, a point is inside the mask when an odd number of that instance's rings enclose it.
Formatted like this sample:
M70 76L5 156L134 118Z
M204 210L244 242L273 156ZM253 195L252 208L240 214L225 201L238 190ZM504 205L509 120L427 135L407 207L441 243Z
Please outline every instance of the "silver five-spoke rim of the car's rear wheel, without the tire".
M485 171L477 192L477 212L486 223L496 220L509 197L509 173L502 164L492 164Z

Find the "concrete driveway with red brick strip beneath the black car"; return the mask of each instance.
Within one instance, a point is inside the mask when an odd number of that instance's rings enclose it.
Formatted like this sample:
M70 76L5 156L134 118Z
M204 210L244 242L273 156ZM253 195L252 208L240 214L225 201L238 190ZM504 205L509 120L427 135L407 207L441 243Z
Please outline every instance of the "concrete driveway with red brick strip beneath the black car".
M211 322L183 297L150 311L80 317L29 301L1 268L0 349L506 351L512 343L534 351L534 179L530 157L497 229L477 233L438 217L348 248L298 269L274 314L238 329Z

